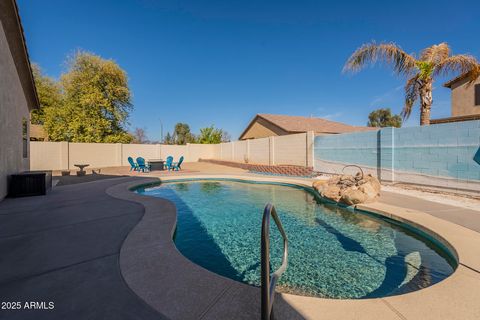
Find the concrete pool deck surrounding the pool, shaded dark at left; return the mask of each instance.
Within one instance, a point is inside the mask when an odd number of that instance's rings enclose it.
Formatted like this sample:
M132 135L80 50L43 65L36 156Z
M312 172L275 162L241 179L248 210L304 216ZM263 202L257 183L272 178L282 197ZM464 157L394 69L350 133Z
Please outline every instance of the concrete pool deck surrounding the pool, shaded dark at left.
M158 176L227 177L228 173L239 179L311 182L252 175L220 166L208 166L208 170L186 168L181 173ZM108 174L115 176L113 173ZM176 250L171 238L175 207L166 200L130 192L132 186L158 181L139 176L61 186L46 197L0 202L2 300L56 301L53 311L12 311L6 318L259 317L258 288L213 274ZM428 201L405 201L404 197L396 200L392 196L384 202L382 196L379 203L362 209L393 213L397 218L428 226L445 238L460 258L451 277L417 292L382 299L327 300L277 294L274 308L278 319L418 319L419 315L422 319L480 318L480 234L474 231L480 215L459 208L457 213L465 214L465 219L458 221L466 224L462 227L446 221L455 216L454 209L445 219L434 217L435 212L421 212L430 208Z

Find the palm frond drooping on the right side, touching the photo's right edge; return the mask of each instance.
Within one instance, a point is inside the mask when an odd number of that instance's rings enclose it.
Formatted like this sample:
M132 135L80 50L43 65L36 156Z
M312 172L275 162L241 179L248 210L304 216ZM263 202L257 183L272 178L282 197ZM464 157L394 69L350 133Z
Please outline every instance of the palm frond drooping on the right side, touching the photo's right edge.
M467 74L472 83L480 76L480 64L475 57L465 54L451 56L439 63L433 72L434 76L447 76L451 73Z

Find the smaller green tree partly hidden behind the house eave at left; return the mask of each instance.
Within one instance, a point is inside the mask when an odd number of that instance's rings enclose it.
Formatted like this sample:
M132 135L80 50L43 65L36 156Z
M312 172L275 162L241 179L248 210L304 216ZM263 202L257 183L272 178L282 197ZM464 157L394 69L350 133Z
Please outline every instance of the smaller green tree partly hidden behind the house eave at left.
M62 90L58 82L42 74L40 66L32 63L33 79L37 89L40 108L31 113L31 122L33 124L44 124L45 113L50 108L61 108L63 105Z

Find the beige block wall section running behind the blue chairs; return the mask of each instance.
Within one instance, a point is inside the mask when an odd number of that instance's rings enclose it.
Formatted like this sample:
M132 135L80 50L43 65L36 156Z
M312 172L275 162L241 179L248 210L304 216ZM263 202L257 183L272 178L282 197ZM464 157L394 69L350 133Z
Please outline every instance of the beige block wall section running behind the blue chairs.
M128 166L128 157L174 159L186 162L214 159L259 165L295 165L313 167L313 132L220 144L121 144L30 142L31 170L76 169L75 164L90 168Z

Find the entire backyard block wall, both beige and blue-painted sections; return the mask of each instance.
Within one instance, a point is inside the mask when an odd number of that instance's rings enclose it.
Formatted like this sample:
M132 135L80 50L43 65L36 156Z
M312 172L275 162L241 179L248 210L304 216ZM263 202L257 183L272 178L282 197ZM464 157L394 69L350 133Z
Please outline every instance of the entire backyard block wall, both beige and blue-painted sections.
M358 165L384 182L480 192L480 121L315 136L313 132L220 144L151 145L31 142L31 170L128 166L127 157L211 159L266 166L301 166L342 173ZM347 173L356 169L345 169Z

